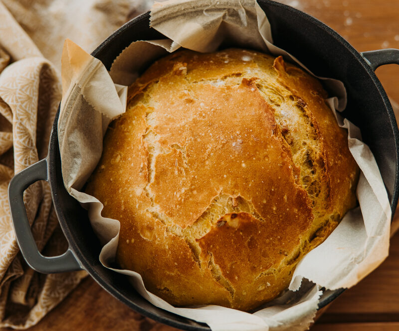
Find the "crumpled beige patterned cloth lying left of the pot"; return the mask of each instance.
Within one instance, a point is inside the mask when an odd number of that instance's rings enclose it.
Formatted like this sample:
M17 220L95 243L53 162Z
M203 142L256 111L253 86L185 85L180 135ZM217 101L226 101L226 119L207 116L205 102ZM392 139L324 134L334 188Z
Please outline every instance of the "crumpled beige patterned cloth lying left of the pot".
M2 2L1 2L2 1ZM0 327L36 324L86 276L85 271L39 274L19 253L8 207L12 176L47 155L61 99L59 76L66 37L91 52L151 1L0 1ZM44 255L68 246L40 181L24 193L28 220Z

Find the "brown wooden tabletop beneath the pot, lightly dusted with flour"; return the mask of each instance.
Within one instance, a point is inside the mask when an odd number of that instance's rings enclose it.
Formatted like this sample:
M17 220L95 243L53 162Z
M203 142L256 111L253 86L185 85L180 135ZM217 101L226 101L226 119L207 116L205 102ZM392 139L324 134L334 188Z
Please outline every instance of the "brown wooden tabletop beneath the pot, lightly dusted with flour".
M399 48L399 0L282 0L310 13L346 38L358 51ZM300 27L298 27L300 28ZM332 54L334 56L334 54ZM399 103L399 66L377 71ZM398 222L399 224L399 222ZM389 258L360 284L347 290L312 331L399 330L399 233ZM172 331L134 313L87 278L32 331Z

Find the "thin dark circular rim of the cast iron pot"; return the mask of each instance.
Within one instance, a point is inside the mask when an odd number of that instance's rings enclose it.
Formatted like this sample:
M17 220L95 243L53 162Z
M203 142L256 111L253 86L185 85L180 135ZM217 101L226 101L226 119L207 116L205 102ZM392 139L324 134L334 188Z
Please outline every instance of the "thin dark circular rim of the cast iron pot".
M395 154L395 162L396 162L396 172L395 172L395 183L394 183L394 191L391 197L391 209L393 212L393 215L395 213L396 206L398 204L398 197L399 197L399 130L398 126L396 123L396 118L394 111L392 109L391 103L388 99L388 96L377 78L374 70L372 67L367 63L366 59L359 53L351 44L349 44L341 35L339 35L335 30L321 22L320 20L316 19L315 17L298 10L296 8L293 8L291 6L275 2L272 0L257 0L259 3L272 3L274 6L278 7L283 7L285 10L289 10L293 12L295 15L300 16L301 18L310 21L311 23L317 25L318 27L322 28L325 33L329 34L332 36L334 39L340 42L342 47L346 48L363 66L363 69L368 73L370 76L370 79L373 81L374 85L377 87L384 104L386 106L386 110L388 112L390 124L394 133L394 138L395 138L395 146L396 146L396 154ZM117 29L115 32L113 32L107 39L105 39L92 53L91 55L94 57L99 56L101 52L108 48L110 44L125 30L129 29L132 25L134 26L138 22L142 20L147 20L150 17L150 11L147 11L132 20L126 22L124 25L122 25L119 29ZM111 62L112 64L112 62ZM110 69L111 64L106 65L107 69ZM74 237L72 237L69 233L71 232L69 229L69 224L66 220L66 217L64 216L64 212L61 209L59 200L58 200L58 195L56 192L53 191L53 185L51 183L55 183L55 159L59 158L59 147L58 147L58 133L57 133L57 123L58 123L58 116L59 116L59 111L60 108L58 107L57 113L55 115L55 119L53 122L53 127L51 131L51 138L50 138L50 144L49 144L49 150L48 150L48 156L47 156L47 161L48 161L48 178L51 186L51 192L52 192L52 197L53 197L53 202L55 205L55 210L58 216L58 219L60 220L60 225L62 228L62 231L64 234L66 234L66 238L69 242L70 249L73 251L75 257L77 260L80 262L80 264L83 266L83 268L90 274L90 276L102 287L104 288L107 292L112 294L114 297L125 303L127 306L130 308L134 309L136 312L149 317L157 322L161 322L164 324L168 324L172 327L179 328L182 330L189 330L189 331L209 331L209 327L206 324L203 323L198 323L195 321L192 321L190 319L185 319L182 318L181 316L175 315L173 313L169 317L165 316L160 316L157 314L154 314L152 312L149 312L145 309L143 309L141 306L136 305L136 303L132 302L129 298L124 296L122 293L119 291L115 290L112 284L106 282L100 274L97 273L97 271L92 267L92 265L86 260L84 255L82 254L79 244L75 240ZM53 137L54 136L54 137ZM343 293L345 289L338 289L335 291L329 291L328 295L325 298L321 298L319 302L319 309L325 307L329 303L331 303L333 300L335 300L341 293ZM173 318L176 316L176 318Z

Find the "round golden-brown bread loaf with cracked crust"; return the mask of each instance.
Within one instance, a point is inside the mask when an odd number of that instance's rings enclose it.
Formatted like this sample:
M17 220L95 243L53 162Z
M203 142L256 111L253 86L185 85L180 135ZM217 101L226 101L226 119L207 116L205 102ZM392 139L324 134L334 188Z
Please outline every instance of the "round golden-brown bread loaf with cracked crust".
M87 192L117 262L175 306L244 311L356 205L358 166L313 77L282 57L179 51L130 88Z

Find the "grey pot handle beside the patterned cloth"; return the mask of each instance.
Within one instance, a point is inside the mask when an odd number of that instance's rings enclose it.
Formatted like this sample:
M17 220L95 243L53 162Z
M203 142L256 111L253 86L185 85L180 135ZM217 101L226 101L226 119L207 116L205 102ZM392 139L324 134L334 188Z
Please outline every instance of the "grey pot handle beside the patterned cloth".
M16 174L8 186L8 199L16 241L27 264L41 273L82 270L70 248L59 256L40 254L34 241L23 204L23 192L38 180L47 181L47 160L43 159Z

